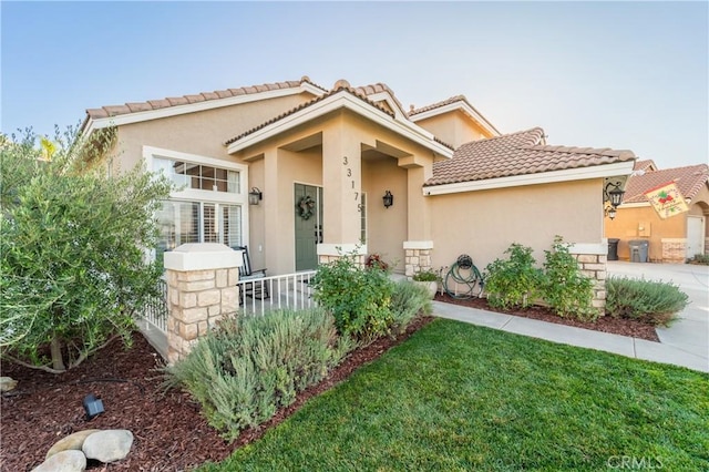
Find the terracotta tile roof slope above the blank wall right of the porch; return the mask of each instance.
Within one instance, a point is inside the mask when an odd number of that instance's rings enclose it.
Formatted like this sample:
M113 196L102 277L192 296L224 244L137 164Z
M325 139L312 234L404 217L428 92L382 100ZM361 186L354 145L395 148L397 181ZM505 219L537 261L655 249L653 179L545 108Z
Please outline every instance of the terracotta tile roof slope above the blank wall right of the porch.
M433 164L433 177L424 186L537 174L633 160L635 154L630 151L546 145L544 130L533 127L461 145L450 161Z

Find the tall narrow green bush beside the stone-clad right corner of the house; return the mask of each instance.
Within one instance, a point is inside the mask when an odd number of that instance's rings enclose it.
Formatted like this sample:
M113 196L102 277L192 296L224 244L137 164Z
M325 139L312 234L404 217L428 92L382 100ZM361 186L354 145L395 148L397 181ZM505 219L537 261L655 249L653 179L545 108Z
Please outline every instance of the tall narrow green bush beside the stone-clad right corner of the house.
M561 317L593 320L599 315L593 306L594 281L582 274L568 247L561 236L556 236L552 250L544 252L542 297Z

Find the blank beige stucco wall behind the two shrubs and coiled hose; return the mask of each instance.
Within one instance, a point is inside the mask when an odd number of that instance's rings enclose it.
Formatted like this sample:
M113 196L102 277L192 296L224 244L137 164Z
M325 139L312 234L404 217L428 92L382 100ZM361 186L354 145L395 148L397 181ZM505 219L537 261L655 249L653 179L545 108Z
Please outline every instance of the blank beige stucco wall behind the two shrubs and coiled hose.
M555 235L566 243L600 244L603 181L466 192L430 196L433 240L432 266L451 265L467 254L480 270L512 243L531 246L541 266Z

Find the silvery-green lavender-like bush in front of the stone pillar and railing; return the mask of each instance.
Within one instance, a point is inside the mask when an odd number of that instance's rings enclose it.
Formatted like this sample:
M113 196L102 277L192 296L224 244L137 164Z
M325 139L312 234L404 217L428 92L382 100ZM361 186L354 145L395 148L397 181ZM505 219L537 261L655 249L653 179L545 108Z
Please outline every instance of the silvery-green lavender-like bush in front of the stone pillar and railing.
M238 316L223 320L166 368L167 384L186 388L209 424L234 440L292 403L351 348L322 309Z

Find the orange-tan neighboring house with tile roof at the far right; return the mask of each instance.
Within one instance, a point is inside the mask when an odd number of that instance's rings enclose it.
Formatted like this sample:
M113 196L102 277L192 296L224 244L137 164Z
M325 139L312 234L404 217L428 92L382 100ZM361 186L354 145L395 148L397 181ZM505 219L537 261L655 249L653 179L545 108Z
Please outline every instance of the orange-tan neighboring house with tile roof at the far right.
M645 194L674 182L689 212L661 219ZM658 170L653 161L638 161L628 178L615 219L606 222L606 237L620 239L618 257L629 259L629 242L646 240L648 259L684 263L709 250L709 166L689 165Z

